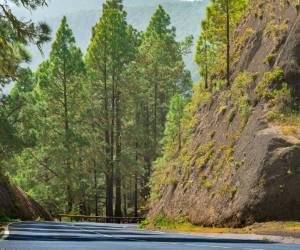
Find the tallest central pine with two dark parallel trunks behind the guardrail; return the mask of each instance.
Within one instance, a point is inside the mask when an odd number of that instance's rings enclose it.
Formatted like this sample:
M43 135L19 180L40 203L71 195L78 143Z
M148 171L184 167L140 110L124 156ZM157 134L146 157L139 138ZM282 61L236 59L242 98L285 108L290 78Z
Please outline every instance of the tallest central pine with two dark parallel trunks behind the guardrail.
M107 0L103 15L93 29L86 62L91 72L91 84L97 84L102 96L100 109L104 110L103 139L105 141L106 215L113 215L113 187L115 192L115 216L122 216L122 116L126 106L123 90L126 88L127 65L135 53L134 30L126 22L122 1Z

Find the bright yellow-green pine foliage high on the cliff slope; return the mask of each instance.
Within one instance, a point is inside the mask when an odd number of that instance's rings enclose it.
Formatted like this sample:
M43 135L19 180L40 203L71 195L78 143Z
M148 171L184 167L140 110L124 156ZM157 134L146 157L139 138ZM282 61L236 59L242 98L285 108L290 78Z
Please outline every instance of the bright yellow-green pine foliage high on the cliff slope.
M247 0L213 0L206 11L206 18L202 21L202 31L198 38L195 61L199 66L199 73L204 78L205 88L212 88L214 81L229 74L228 69L233 58L230 58L230 37L232 36L236 22L240 19ZM227 45L227 54L224 56L224 48ZM224 63L215 63L224 60ZM217 65L217 66L216 66ZM227 65L227 69L224 66ZM220 67L222 66L222 67ZM226 84L228 85L229 76Z

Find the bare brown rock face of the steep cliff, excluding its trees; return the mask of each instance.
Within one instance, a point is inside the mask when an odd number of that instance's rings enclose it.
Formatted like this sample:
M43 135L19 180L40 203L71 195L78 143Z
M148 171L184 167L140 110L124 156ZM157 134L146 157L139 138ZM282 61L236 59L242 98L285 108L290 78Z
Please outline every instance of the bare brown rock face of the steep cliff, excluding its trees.
M230 227L300 219L299 130L286 131L270 122L269 105L255 97L265 73L279 66L299 101L298 7L287 0L250 3L234 34L233 50L241 52L232 66L232 81L241 72L255 74L249 89L251 113L245 121L235 111L232 94L224 93L213 94L199 107L185 151L167 163L150 218L183 217L204 226Z

